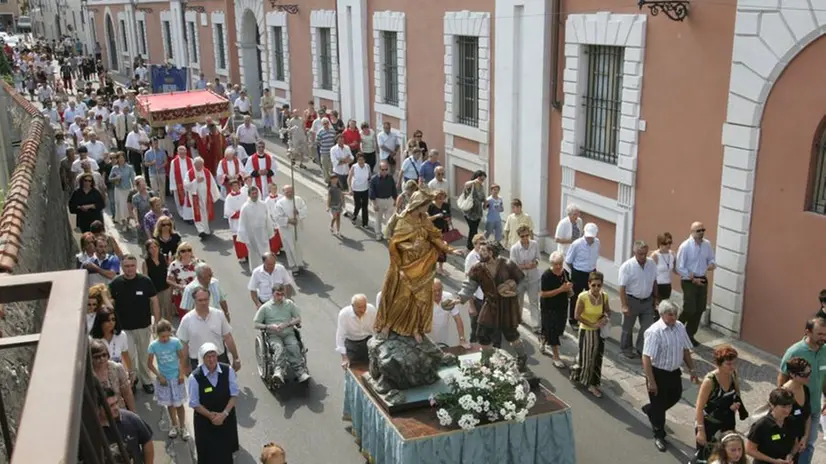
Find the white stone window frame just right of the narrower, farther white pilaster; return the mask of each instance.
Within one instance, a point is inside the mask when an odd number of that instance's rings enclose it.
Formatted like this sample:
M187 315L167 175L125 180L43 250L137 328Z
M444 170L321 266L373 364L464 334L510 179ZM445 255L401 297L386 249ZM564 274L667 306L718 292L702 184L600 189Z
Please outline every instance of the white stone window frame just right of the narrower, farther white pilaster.
M385 103L384 37L383 32L396 33L396 72L398 105ZM400 121L406 133L407 119L407 31L406 15L401 11L376 11L373 13L373 69L375 95L373 106L376 113L386 114ZM377 120L379 117L377 116Z

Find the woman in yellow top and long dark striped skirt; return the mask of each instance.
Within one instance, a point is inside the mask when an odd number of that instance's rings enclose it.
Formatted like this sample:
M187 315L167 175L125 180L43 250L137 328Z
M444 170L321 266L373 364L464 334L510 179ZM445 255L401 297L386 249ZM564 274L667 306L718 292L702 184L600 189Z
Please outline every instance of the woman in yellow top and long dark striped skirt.
M602 329L608 323L611 309L608 295L602 291L603 275L592 272L588 276L588 290L579 294L574 317L579 321L579 355L571 368L571 380L588 387L588 391L602 398L599 385L602 382L602 355L605 339Z

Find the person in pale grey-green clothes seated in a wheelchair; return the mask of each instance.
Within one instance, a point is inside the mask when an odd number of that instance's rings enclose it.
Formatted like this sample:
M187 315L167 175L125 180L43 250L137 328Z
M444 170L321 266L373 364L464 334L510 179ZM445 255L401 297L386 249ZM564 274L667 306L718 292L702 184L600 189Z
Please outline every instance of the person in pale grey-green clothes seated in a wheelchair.
M253 319L255 328L267 331L267 345L274 354L269 358L272 380L283 384L289 367L299 382L310 380L302 354L302 343L296 326L301 324L301 315L292 300L286 296L286 287L276 284L272 289L272 299L261 305Z

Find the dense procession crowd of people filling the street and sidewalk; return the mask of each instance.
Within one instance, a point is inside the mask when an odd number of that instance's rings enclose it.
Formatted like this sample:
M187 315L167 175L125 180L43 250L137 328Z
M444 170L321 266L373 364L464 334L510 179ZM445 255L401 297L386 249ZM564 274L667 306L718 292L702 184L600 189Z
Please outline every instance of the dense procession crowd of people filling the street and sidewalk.
M310 379L298 330L300 311L293 300L295 279L307 266L301 238L310 212L291 185L276 185L276 173L288 168L279 167L267 151L263 134L282 138L293 165L289 168L301 169L309 162L321 166L333 236L341 236L342 215L364 229L373 216L375 239L398 247L414 241L415 234L394 234L395 221L418 215L436 229L428 240L437 249L437 273L446 273L449 253L466 255L466 280L456 295L444 291L439 279L432 282L432 304L425 309L432 311L431 331L420 334L412 328L407 335L428 335L446 344L452 320L461 344L500 347L504 338L516 352L520 369L527 371L518 332L524 305L531 329L540 337L540 353L550 356L555 367L568 369L573 382L599 398L610 315L617 310L623 316L622 354L641 361L650 399L643 411L658 450L668 448L665 416L681 398L685 364L691 381L700 384L694 462L812 462L826 411L821 367L826 366L826 290L819 295L820 312L802 324L803 339L783 357L778 388L765 404L751 405L751 414L759 419L741 434L736 418L745 420L749 413L740 398L736 350L715 347L716 368L702 379L694 371L691 353L699 345L694 336L707 306L708 277L715 269L702 223L691 224L676 252L669 232L656 237L653 252L645 241L636 241L632 257L619 269L620 308L611 308L598 269L599 229L583 224L576 205L568 205L560 220L550 269L541 272L535 227L521 201L502 198L482 171L473 173L451 201L440 153L428 147L421 131L404 141L389 124L376 131L367 121L345 123L336 111L315 108L312 102L304 110L276 108L265 90L259 132L246 92L218 79L208 82L203 75L196 87L226 96L233 116L149 127L136 111L137 95L147 92L142 63L135 63L135 78L126 89L116 88L99 60L59 48L40 44L13 50L15 85L42 103L44 116L58 128L54 161L82 233L77 264L89 274L93 365L111 407L101 412L101 420L109 430L107 418L115 418L120 435L128 438L132 462L154 459L149 426L134 414L138 385L169 409L170 439L190 439L184 405L195 410L200 462L232 462L238 450L235 372L241 364L230 306L246 303L227 301L213 269L194 256L190 240L195 237L184 237L175 227L181 221L193 224L199 239L209 240L219 201L235 255L240 263L250 263L254 322L269 334L267 343L275 353L269 370L273 381ZM167 196L173 197L174 211L165 207ZM346 212L348 198L354 204L352 214ZM507 216L505 204L510 205ZM106 230L104 211L116 227L134 229L145 250L140 260L125 253ZM456 214L468 225L466 236L453 224ZM466 252L450 247L460 240L466 240ZM278 262L281 254L286 265ZM403 253L391 253L391 266L404 259ZM680 284L681 306L670 299L674 281ZM387 314L389 306L381 293L375 305L357 294L341 309L334 346L342 367L366 360L367 341L392 325L388 317L395 316ZM467 332L463 309L471 321ZM494 311L495 320L490 317ZM577 334L579 348L570 363L559 350L568 326ZM267 445L262 462L284 462L283 448Z

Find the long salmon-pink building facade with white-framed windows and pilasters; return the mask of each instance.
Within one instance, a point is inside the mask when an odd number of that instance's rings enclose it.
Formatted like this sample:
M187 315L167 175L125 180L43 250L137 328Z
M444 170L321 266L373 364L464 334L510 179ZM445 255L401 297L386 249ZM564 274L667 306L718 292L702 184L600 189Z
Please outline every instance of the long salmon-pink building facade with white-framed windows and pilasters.
M718 263L710 324L774 353L801 335L826 287L821 10L649 2L687 7L672 20L636 1L287 3L88 0L82 14L113 71L140 55L253 101L269 88L402 138L423 131L452 196L486 171L546 251L577 204L600 228L608 283L635 240L668 231L676 249L702 221Z

